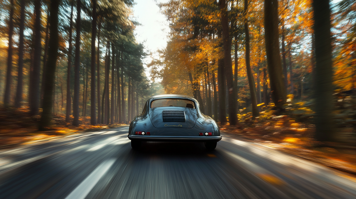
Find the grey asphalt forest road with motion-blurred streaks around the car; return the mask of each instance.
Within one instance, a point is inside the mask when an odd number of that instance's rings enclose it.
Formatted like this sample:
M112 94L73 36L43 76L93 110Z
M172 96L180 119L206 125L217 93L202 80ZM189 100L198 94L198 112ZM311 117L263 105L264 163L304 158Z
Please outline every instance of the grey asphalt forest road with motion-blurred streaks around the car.
M356 198L356 178L223 136L203 143L147 142L128 126L0 151L1 199Z

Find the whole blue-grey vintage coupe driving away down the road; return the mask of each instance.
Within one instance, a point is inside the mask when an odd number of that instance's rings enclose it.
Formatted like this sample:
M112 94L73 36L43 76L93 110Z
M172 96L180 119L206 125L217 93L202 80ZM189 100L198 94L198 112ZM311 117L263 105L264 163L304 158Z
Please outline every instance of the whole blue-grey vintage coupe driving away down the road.
M142 141L204 142L208 150L221 140L218 124L201 113L199 103L185 95L158 95L149 98L141 114L130 123L131 147Z

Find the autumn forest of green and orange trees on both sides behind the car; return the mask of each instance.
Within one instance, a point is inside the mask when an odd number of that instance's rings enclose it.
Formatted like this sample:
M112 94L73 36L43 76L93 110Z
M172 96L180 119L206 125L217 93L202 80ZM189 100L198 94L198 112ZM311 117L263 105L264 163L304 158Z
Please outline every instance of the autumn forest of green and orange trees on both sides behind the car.
M220 125L288 118L321 141L356 125L354 0L157 2L169 41L153 54L135 39L134 4L0 1L2 124L127 124L167 93L194 96Z

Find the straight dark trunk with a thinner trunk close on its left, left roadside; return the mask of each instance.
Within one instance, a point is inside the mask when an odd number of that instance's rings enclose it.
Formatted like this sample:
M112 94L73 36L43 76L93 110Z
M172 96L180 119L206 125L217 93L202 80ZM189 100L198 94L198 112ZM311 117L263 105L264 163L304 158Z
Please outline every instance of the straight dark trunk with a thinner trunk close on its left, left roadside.
M77 0L77 30L75 36L75 58L74 58L74 98L73 98L73 125L79 125L79 67L80 67L80 7L82 3Z

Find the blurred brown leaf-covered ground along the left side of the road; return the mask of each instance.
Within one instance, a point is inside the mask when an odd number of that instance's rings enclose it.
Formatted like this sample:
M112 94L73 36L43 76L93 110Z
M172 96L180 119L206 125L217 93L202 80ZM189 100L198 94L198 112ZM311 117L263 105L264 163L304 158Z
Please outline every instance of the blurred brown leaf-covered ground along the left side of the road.
M109 129L123 124L90 125L90 117L80 117L79 126L66 122L64 114L57 114L52 118L51 128L38 131L40 115L31 116L27 108L0 108L0 149L12 148L34 142L47 141L93 129Z

